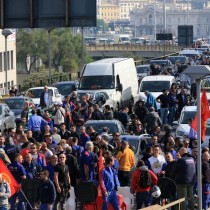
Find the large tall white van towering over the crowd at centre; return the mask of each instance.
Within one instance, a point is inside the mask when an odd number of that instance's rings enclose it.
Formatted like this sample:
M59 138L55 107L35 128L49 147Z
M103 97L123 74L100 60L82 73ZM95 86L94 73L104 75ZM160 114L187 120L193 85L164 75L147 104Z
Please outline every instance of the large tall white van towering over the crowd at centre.
M108 58L84 66L78 93L106 92L113 100L114 110L129 108L138 99L138 80L132 58Z

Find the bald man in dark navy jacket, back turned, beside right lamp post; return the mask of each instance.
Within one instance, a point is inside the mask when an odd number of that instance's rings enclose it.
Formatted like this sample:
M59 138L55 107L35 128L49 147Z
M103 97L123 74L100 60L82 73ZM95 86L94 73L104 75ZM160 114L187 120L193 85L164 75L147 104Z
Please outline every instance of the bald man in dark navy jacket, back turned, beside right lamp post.
M187 153L185 147L180 148L181 158L177 160L174 177L177 187L178 198L187 198L188 209L194 210L193 185L196 181L196 169L193 157ZM186 209L186 203L181 203L181 210Z

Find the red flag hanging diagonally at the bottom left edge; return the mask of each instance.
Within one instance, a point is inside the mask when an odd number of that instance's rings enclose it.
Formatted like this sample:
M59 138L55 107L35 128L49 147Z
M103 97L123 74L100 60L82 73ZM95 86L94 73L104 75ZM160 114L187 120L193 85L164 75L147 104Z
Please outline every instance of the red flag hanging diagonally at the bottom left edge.
M20 186L15 178L12 176L11 172L4 164L2 159L0 159L0 173L2 174L3 179L6 180L7 183L10 185L11 196L14 195L20 189Z

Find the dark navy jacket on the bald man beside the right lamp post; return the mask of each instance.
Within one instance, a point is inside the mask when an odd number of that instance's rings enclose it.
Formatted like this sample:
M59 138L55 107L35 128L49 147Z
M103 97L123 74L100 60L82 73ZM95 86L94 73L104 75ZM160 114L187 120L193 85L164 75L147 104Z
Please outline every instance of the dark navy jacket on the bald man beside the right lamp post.
M177 160L174 167L174 177L176 184L193 185L195 183L195 162L190 154L183 154L182 157Z

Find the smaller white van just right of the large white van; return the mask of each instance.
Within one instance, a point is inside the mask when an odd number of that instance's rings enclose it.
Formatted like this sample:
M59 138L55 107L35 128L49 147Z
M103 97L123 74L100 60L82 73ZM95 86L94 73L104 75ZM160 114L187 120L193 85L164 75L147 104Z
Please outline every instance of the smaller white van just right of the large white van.
M175 78L173 76L167 75L155 75L146 76L141 80L139 86L139 96L146 101L145 91L149 91L152 95L157 98L162 94L163 89L170 89L172 83L175 83ZM160 109L160 104L157 103L157 109Z

